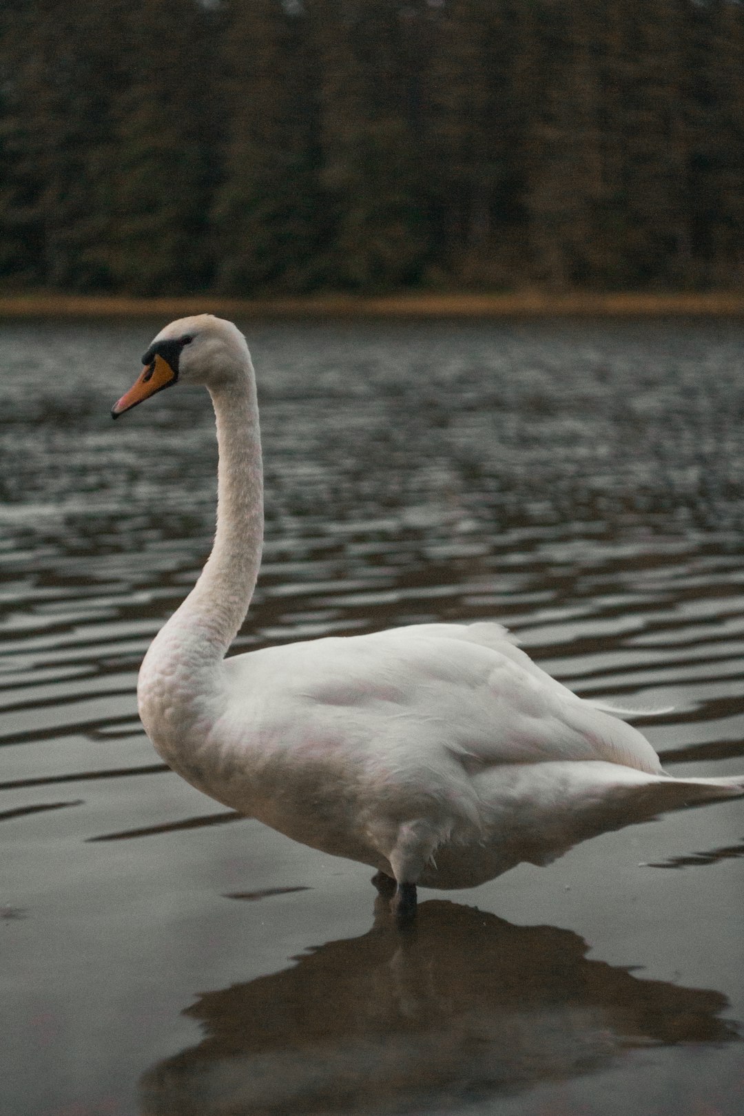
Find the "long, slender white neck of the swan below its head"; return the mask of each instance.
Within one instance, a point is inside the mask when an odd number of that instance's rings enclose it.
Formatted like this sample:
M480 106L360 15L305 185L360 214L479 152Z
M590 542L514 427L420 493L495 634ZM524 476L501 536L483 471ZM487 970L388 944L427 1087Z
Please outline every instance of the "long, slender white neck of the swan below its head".
M139 709L153 742L197 714L220 690L220 667L255 587L263 539L263 483L255 378L244 371L211 388L220 465L218 527L196 585L160 631L139 672ZM191 711L191 712L190 712Z

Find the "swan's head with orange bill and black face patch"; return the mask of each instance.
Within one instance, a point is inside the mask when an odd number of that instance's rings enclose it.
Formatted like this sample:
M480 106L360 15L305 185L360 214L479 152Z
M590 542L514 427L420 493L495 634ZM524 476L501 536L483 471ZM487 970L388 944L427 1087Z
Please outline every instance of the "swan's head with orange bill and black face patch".
M118 419L156 392L173 384L200 384L219 388L245 375L250 357L238 326L211 314L172 321L153 340L142 358L144 372L133 387L114 404Z

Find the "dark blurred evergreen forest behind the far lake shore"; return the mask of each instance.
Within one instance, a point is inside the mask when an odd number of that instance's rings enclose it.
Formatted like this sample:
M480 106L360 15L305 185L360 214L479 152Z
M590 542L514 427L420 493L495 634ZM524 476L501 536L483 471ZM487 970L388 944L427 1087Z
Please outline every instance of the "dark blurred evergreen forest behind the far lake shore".
M744 279L733 0L3 0L0 282Z

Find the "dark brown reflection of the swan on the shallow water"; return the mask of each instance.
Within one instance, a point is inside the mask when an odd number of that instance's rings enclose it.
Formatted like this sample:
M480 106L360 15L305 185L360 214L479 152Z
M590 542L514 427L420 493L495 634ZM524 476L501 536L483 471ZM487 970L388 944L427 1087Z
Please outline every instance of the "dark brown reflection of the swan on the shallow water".
M719 992L639 980L568 930L443 901L416 933L330 942L200 995L204 1038L151 1069L146 1116L431 1112L577 1077L634 1048L735 1040Z

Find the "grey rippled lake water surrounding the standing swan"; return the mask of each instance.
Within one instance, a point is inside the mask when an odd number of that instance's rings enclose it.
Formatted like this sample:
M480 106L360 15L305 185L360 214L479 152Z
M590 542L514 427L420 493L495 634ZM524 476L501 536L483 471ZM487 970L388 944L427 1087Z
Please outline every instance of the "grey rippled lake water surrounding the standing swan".
M162 323L3 323L0 1110L734 1116L744 806L403 937L370 870L164 769L137 667L211 545L209 402L112 403ZM744 324L249 324L267 546L242 648L497 618L675 775L744 769Z

